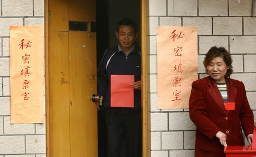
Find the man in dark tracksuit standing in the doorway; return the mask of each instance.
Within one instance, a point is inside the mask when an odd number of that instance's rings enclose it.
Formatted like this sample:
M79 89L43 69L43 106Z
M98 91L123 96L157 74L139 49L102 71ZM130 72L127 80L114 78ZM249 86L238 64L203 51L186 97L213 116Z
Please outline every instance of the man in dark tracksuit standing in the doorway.
M108 130L108 156L121 156L125 141L126 157L142 156L141 130L141 53L135 43L138 36L137 24L131 19L122 19L115 32L119 44L106 49L97 71L97 90L103 106ZM110 88L112 75L133 75L134 107L112 107ZM122 97L120 97L122 99ZM125 104L123 104L125 106Z

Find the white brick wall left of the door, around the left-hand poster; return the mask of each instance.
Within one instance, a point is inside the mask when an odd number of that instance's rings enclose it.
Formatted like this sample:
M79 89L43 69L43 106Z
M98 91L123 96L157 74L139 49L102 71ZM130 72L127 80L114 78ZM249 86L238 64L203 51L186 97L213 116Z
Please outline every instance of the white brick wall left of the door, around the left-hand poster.
M34 4L34 6L33 6ZM43 25L43 0L2 0L0 8L0 157L46 157L46 124L10 124L10 26Z

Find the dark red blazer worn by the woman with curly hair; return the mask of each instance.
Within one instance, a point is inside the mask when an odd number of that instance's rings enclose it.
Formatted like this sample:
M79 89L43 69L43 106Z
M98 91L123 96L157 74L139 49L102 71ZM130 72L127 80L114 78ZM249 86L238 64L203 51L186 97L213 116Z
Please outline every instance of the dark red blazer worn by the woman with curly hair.
M189 116L196 125L195 156L225 156L224 146L215 137L218 131L227 136L228 146L244 145L241 131L253 133L253 111L241 81L226 79L228 102L235 102L235 110L226 110L214 80L209 76L192 83Z

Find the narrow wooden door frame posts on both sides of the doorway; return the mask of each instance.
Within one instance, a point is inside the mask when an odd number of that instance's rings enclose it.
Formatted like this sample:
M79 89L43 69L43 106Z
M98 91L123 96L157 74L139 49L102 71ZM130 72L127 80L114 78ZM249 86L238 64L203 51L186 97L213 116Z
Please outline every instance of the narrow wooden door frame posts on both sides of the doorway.
M148 76L147 76L147 55L148 55L148 5L147 0L141 0L141 51L142 51L142 151L143 157L147 157L150 146L150 137L148 134ZM51 139L49 129L51 126L50 108L49 108L49 0L44 0L44 43L45 43L45 73L46 73L46 155L50 157ZM55 156L51 156L55 157Z

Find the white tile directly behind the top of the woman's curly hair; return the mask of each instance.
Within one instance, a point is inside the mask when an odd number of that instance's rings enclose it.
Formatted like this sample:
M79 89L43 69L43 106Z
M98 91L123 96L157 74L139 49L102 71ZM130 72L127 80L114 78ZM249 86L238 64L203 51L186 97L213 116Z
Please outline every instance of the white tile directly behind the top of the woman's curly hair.
M199 54L206 54L213 46L228 48L228 36L199 36Z

